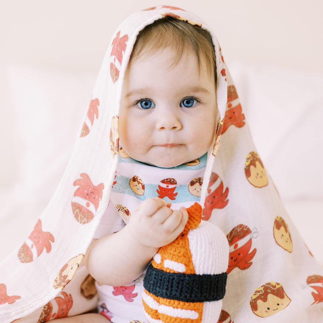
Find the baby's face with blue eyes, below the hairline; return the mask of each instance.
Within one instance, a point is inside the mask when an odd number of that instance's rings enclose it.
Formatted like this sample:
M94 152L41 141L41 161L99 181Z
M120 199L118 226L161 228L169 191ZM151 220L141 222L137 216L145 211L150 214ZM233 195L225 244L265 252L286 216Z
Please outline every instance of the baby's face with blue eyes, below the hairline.
M173 57L167 48L130 62L120 102L120 146L131 158L159 167L202 156L215 131L215 81L209 79L203 57L200 79L194 53L183 55L171 69ZM178 145L160 146L167 143Z

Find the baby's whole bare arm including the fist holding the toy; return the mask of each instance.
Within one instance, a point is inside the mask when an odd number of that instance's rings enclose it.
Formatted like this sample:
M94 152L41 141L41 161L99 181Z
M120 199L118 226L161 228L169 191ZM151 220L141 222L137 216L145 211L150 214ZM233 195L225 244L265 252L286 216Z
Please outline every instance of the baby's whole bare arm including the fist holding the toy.
M188 219L185 207L173 211L160 198L142 202L120 231L90 244L83 259L98 282L124 286L138 278L161 246L182 233Z

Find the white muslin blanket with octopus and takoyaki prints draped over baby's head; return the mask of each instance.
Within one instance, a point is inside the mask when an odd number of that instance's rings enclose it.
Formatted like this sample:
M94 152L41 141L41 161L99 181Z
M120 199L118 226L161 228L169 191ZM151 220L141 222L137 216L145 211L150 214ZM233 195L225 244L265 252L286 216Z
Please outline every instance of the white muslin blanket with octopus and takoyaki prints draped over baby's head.
M118 165L124 75L139 31L165 16L208 30L214 43L218 118L200 204L203 219L218 225L229 242L220 321L258 322L280 315L280 321L289 322L291 310L298 318L318 317L318 309L309 307L323 300L323 270L256 151L216 36L194 13L159 5L130 15L110 39L66 171L34 230L0 264L1 322L45 322L62 317L57 308L73 316L96 307L93 278L81 262L108 206ZM273 312L266 309L272 307L268 302L285 305Z

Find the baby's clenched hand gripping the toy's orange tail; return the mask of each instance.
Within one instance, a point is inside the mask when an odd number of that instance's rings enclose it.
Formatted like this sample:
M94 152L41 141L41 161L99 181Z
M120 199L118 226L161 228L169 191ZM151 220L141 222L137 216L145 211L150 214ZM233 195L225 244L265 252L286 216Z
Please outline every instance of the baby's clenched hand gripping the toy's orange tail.
M127 224L130 233L148 247L160 248L173 242L184 230L188 213L184 206L173 211L171 204L159 197L142 202Z

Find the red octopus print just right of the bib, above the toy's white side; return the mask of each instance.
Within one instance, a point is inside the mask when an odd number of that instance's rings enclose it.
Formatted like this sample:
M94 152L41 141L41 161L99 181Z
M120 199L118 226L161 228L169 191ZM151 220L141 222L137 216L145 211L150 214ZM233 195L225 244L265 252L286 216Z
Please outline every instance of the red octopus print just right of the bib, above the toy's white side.
M226 188L223 192L224 186L218 174L212 172L210 176L209 186L207 188L207 196L205 198L204 209L202 213L202 220L207 221L214 209L223 209L229 200L226 198L229 194L229 189Z

